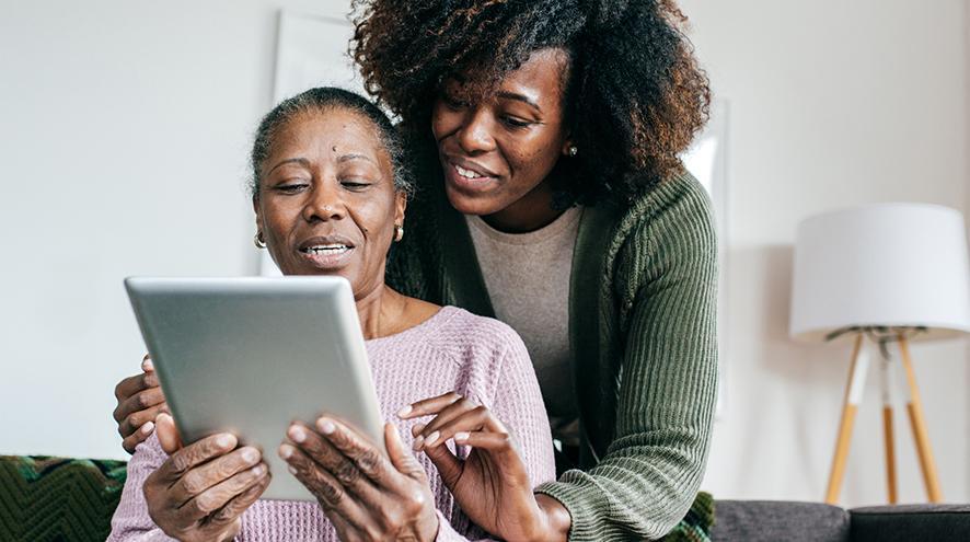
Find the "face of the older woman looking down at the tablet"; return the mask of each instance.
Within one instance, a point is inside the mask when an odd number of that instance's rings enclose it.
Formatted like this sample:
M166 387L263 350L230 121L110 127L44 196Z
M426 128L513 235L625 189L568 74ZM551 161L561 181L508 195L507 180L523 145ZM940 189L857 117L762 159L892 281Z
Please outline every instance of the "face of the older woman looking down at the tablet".
M284 275L339 275L361 299L383 285L405 201L373 124L332 107L298 114L277 131L253 206Z

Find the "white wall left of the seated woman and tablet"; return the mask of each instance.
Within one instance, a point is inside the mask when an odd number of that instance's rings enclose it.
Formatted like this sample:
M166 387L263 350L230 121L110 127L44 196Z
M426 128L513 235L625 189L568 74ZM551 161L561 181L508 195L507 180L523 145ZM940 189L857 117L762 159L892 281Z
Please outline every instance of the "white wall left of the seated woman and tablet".
M124 457L127 275L255 269L243 189L279 8L0 2L0 453Z

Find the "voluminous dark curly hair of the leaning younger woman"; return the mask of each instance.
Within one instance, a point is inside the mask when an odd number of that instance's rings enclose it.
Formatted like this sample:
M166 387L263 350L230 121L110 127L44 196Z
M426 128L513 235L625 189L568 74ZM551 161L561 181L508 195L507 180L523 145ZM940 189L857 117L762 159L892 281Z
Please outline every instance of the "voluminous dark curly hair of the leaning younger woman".
M447 78L464 73L481 97L533 51L564 49L564 114L580 153L553 175L571 201L634 197L674 174L707 120L708 80L672 0L356 0L353 19L368 92L417 134Z

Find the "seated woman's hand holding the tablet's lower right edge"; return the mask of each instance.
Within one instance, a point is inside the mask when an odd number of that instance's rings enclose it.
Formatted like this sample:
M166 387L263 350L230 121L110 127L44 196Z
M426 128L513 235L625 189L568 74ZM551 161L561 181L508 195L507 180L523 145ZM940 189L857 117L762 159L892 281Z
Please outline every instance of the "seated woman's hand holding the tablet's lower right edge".
M300 422L287 430L279 455L316 496L340 540L434 540L435 497L420 463L384 425L386 457L348 426L328 417L315 428Z

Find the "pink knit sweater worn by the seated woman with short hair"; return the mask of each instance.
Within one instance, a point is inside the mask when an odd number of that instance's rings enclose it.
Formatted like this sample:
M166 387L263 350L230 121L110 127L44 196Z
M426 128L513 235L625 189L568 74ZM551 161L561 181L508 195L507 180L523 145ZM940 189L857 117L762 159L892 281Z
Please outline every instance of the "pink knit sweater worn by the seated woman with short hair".
M555 478L552 437L529 354L507 325L444 307L426 322L397 335L367 342L384 419L393 422L411 447L411 426L395 413L414 401L449 391L487 406L515 436L532 485ZM451 442L448 445L451 446ZM452 448L453 450L453 448ZM467 447L458 447L466 457ZM128 463L128 480L108 540L171 540L148 516L141 491L148 475L168 458L152 436L138 446ZM486 534L471 524L424 453L440 527L438 540L480 540ZM289 476L289 473L276 473ZM242 516L240 541L335 541L336 531L316 503L257 500Z

